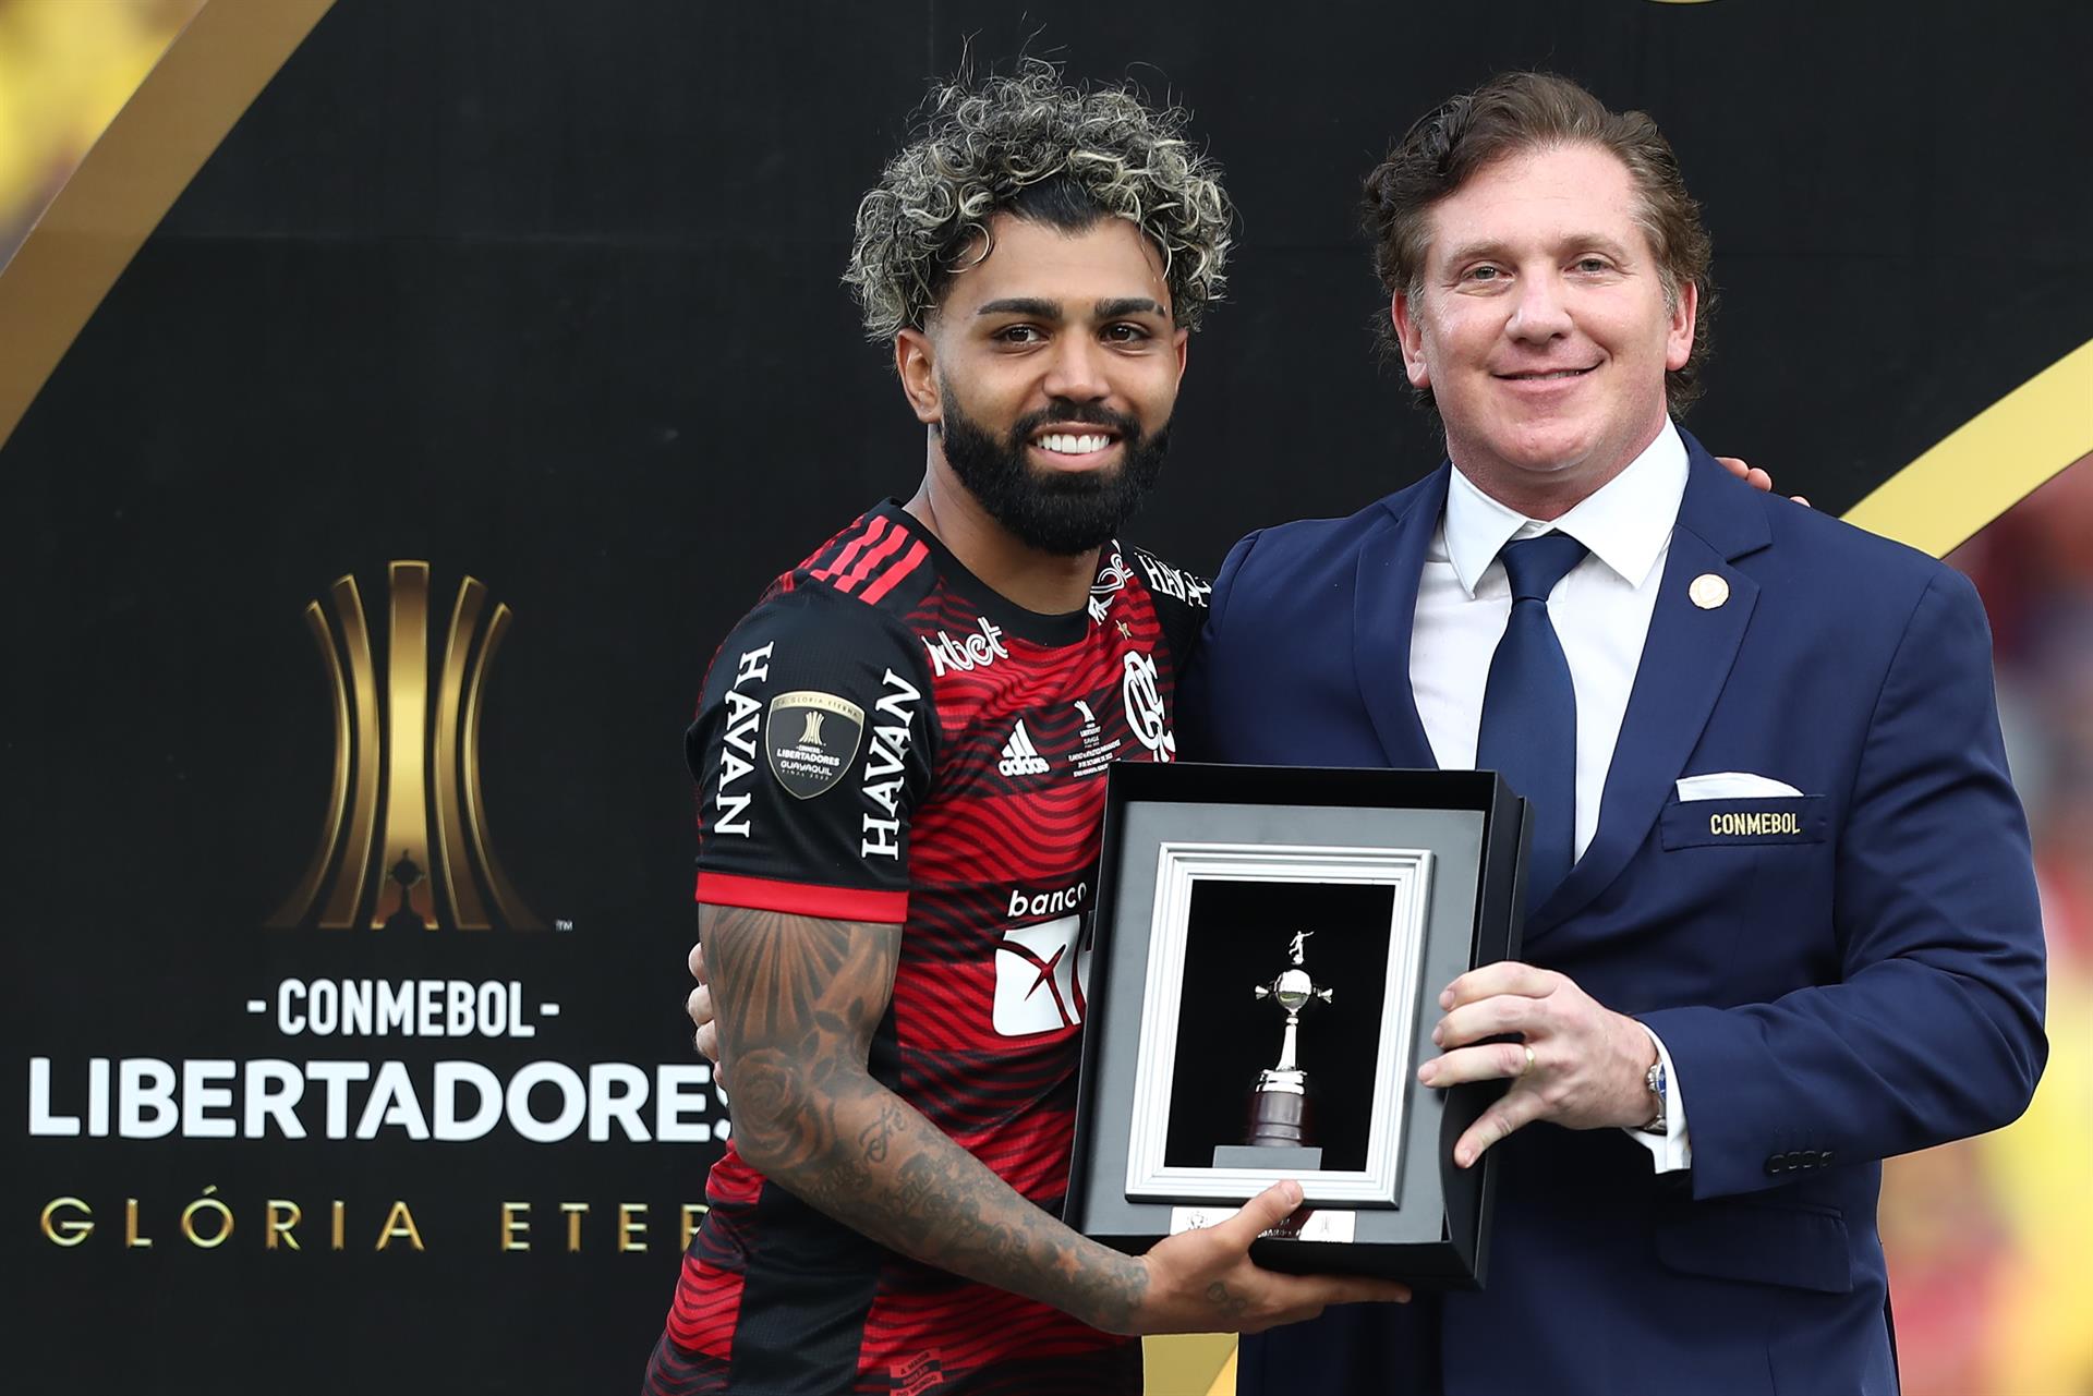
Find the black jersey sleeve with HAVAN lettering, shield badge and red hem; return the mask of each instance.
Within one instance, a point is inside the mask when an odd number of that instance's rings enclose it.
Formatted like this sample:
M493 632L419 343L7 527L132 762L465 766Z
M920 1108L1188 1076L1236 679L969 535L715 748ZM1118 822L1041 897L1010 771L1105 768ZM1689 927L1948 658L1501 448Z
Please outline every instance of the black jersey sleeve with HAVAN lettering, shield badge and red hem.
M697 900L906 921L933 733L929 666L898 620L825 588L764 601L720 647L684 735Z

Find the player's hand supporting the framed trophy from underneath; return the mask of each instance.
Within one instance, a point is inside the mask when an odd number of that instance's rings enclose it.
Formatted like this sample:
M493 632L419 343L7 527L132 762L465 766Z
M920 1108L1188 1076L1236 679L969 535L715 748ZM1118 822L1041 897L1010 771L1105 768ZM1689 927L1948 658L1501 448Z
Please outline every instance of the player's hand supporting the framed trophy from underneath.
M1149 1287L1134 1310L1134 1333L1262 1333L1314 1319L1329 1304L1406 1304L1409 1285L1392 1279L1279 1275L1250 1260L1250 1243L1302 1203L1300 1183L1275 1183L1243 1210L1201 1231L1157 1241L1143 1264Z

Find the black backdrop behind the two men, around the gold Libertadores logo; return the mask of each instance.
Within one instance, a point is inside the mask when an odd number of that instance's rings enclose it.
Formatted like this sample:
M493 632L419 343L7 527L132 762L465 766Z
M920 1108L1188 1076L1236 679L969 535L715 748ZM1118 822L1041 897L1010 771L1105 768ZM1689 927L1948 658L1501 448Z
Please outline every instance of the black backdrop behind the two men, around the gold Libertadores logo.
M1555 67L1670 134L1725 291L1689 425L1783 490L1842 509L2093 337L2080 4L339 0L0 452L10 1388L632 1390L712 1145L329 1141L318 1086L303 1141L52 1120L86 1118L90 1059L404 1061L421 1088L437 1059L689 1063L678 733L770 571L921 469L835 276L858 193L969 46L1132 73L1229 170L1231 301L1134 530L1191 567L1436 463L1371 362L1352 199L1494 69ZM440 615L465 573L515 609L486 818L571 929L266 927L333 758L299 611L354 573L383 651L393 559L433 565ZM356 977L515 980L561 1015L427 1042L243 1007ZM234 1216L216 1249L180 1229L205 1187ZM48 1231L59 1197L96 1229L61 1208ZM266 1247L270 1199L303 1210L299 1252ZM421 1249L377 1247L393 1201ZM530 1252L498 1249L504 1201L532 1203ZM561 1203L590 1208L578 1252ZM647 1206L647 1249L615 1249L620 1203Z

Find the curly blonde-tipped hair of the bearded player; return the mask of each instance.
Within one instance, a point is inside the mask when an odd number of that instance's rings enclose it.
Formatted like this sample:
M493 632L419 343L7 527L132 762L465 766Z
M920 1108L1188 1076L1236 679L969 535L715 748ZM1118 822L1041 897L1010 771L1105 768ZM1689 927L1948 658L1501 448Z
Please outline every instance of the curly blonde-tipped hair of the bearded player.
M1197 329L1226 283L1235 207L1185 121L1132 88L1063 86L1044 59L933 86L915 138L858 203L843 283L867 339L923 329L952 276L990 253L1003 211L1070 230L1132 222L1162 251L1176 322Z

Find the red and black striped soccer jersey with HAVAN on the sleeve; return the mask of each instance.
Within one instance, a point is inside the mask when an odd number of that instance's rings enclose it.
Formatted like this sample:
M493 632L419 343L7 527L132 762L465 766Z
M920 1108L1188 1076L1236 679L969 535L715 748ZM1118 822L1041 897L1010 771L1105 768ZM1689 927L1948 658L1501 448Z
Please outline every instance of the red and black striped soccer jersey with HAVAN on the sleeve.
M687 739L697 900L902 923L871 1074L1059 1214L1105 768L1174 760L1208 586L1111 544L1036 615L885 502L720 647ZM1136 1394L1141 1348L867 1241L728 1145L649 1392Z

